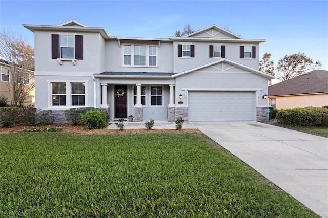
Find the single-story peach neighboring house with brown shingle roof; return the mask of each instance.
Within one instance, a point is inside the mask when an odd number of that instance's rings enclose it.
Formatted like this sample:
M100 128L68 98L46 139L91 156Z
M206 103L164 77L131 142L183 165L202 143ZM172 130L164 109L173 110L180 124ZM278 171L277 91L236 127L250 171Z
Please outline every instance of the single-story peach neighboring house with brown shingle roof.
M328 105L328 71L314 70L268 88L269 104L277 109Z

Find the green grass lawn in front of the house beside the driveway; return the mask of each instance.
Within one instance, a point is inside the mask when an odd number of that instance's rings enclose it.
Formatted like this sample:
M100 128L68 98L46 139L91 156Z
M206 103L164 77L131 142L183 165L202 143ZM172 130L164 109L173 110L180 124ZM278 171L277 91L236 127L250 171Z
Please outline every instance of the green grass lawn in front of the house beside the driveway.
M0 217L318 217L207 137L0 136Z

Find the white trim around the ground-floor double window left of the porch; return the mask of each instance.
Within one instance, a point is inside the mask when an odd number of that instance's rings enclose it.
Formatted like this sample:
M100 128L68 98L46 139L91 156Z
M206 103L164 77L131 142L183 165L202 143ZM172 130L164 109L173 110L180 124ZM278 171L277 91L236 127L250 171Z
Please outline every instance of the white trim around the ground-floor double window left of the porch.
M89 80L46 80L47 82L47 98L48 98L48 110L68 110L77 107L88 107L88 83ZM65 82L66 83L66 106L53 106L52 105L52 86L53 82ZM85 83L85 105L84 106L72 106L72 88L71 83Z

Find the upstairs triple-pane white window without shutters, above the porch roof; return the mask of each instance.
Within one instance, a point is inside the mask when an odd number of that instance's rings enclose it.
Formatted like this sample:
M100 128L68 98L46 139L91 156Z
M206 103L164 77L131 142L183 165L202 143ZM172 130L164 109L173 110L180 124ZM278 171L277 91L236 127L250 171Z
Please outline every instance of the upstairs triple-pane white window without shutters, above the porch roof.
M124 66L157 66L156 53L157 46L153 45L123 45L122 64Z

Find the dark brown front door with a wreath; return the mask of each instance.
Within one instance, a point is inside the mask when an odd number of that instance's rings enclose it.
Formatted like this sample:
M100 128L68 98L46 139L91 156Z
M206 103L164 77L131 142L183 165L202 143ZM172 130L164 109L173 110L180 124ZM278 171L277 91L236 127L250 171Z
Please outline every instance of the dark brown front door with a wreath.
M127 85L115 85L115 118L127 118Z

